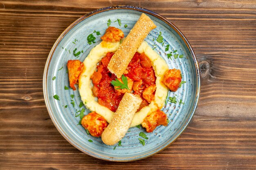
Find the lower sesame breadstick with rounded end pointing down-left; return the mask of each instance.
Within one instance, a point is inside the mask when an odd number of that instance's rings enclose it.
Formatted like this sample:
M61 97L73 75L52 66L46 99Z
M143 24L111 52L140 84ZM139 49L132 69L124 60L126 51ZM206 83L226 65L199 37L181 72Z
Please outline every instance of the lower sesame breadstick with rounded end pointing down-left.
M141 102L142 99L140 97L131 93L124 94L110 124L101 135L104 144L114 145L126 135Z

